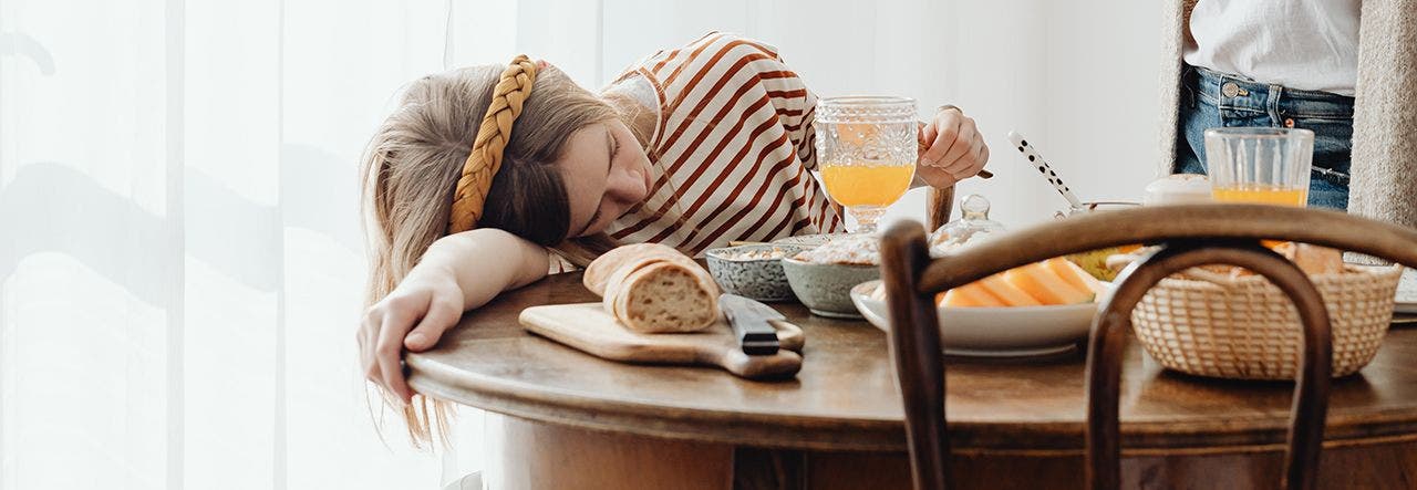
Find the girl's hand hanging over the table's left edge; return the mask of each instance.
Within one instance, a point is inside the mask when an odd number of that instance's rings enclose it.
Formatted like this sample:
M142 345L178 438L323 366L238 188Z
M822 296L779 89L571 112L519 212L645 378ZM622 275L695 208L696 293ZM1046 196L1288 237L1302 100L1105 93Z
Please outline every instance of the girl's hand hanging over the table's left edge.
M425 351L462 317L463 295L452 270L414 268L404 282L370 306L359 329L364 377L408 404L414 391L404 381L404 348Z

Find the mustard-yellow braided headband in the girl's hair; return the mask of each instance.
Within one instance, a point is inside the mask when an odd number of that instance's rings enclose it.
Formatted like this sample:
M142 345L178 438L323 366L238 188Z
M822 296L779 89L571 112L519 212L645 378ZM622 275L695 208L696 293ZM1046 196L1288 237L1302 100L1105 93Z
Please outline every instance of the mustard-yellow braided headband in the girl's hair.
M512 123L521 115L521 103L531 96L536 82L536 64L521 54L502 71L497 86L492 92L492 105L478 127L478 139L472 142L472 153L462 164L458 190L452 194L452 210L448 214L448 232L456 234L478 227L482 207L492 190L492 177L502 169L502 150L512 140Z

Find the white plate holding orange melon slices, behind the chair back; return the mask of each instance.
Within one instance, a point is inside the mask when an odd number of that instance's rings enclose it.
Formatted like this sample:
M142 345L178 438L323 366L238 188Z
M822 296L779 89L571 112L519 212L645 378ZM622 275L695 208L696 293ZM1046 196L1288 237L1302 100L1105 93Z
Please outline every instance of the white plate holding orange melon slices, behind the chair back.
M886 302L871 299L880 285L871 280L852 287L852 303L877 329L890 331ZM939 341L945 354L972 357L1026 357L1073 350L1087 337L1097 303L1015 307L938 307Z

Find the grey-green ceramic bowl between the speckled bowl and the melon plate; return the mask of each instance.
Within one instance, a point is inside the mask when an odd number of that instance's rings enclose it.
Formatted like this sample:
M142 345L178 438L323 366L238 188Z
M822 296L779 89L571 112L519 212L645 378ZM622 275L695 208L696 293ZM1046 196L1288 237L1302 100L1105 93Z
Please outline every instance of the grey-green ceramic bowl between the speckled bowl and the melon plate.
M881 278L880 266L812 263L792 258L782 259L792 293L812 313L833 319L860 319L852 304L852 287Z

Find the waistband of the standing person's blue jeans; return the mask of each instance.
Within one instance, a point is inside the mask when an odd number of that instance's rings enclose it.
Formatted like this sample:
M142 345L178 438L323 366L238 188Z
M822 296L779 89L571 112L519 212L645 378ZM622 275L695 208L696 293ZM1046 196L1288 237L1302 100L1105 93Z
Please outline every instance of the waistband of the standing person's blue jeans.
M1186 65L1186 85L1220 109L1280 112L1292 118L1350 119L1353 98L1261 84L1240 75Z

